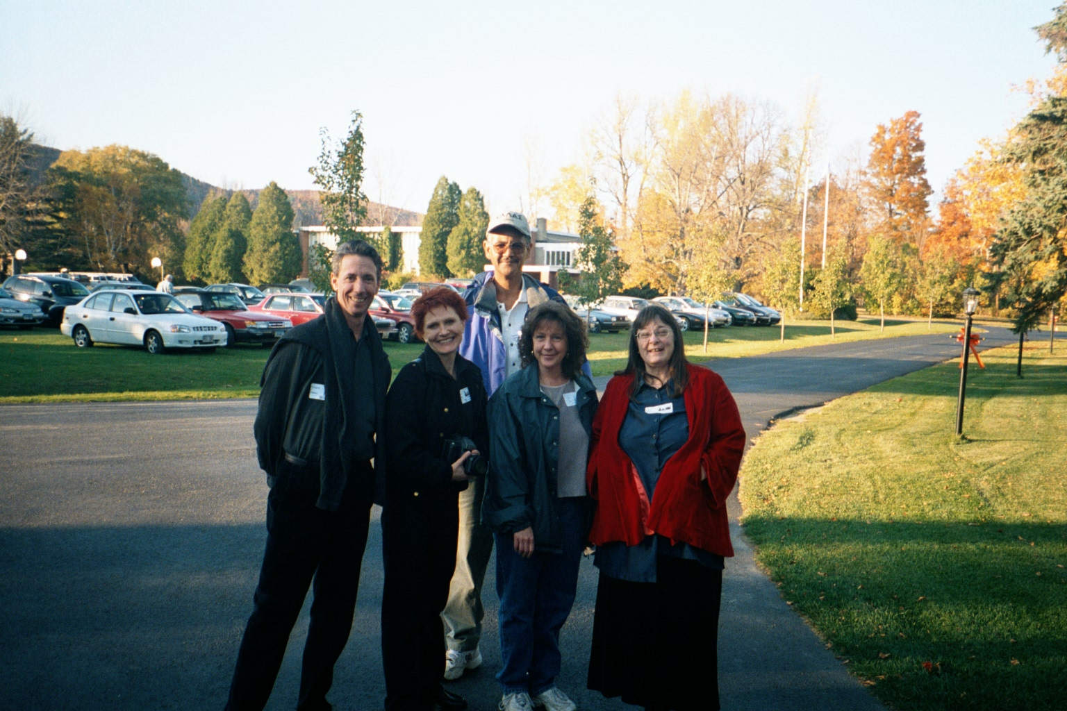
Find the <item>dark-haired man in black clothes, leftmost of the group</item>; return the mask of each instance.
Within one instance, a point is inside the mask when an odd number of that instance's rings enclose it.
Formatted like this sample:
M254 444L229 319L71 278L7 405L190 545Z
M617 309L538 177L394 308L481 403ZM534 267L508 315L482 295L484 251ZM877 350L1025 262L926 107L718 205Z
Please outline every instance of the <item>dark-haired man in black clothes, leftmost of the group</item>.
M254 432L271 487L267 549L227 710L267 704L313 580L297 708L331 708L325 695L352 628L370 506L383 499L375 433L392 370L367 318L382 260L366 242L347 242L332 268L336 296L323 316L286 334L264 369Z

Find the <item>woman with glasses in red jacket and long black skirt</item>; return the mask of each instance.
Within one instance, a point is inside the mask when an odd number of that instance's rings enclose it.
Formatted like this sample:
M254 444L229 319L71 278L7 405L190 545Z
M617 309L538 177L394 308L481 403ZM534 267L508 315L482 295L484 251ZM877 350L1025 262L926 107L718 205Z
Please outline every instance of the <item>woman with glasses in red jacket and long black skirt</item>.
M662 306L637 314L590 449L600 584L589 689L655 711L718 709L727 497L745 431L722 378L686 361Z

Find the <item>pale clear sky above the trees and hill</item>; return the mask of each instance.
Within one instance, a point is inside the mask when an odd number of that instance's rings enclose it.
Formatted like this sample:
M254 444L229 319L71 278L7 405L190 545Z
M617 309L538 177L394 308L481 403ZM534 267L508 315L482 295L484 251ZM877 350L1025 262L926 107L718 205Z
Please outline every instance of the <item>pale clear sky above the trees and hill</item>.
M0 112L61 149L125 144L227 188L313 188L318 131L364 114L371 199L425 211L441 175L491 212L578 158L619 93L734 92L797 123L818 95L822 156L866 153L922 114L940 191L1026 110L1053 62L1031 30L1054 0L0 0Z

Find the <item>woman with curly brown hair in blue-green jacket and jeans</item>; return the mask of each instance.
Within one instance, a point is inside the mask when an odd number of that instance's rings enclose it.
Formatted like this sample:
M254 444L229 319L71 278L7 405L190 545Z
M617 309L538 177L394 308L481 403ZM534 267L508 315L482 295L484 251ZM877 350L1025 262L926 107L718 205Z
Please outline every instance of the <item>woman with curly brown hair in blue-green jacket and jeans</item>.
M556 688L559 630L571 613L588 533L586 464L596 389L582 372L585 325L566 305L530 309L523 369L489 402L482 519L496 538L500 711L573 711Z

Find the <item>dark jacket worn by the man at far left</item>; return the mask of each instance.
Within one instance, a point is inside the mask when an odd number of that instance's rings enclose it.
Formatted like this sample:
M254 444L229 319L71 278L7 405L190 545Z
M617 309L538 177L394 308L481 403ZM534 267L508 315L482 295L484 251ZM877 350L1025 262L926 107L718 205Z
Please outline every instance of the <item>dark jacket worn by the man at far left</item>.
M259 466L272 487L308 490L317 485L316 505L336 511L357 458L351 414L356 398L372 398L375 432L385 421L385 391L392 377L388 356L369 317L361 340L370 349L372 382L356 383L355 339L337 302L325 312L290 329L274 344L264 368L259 409L253 432ZM366 482L375 501L384 501L385 453L375 447L375 481Z

